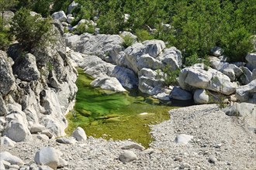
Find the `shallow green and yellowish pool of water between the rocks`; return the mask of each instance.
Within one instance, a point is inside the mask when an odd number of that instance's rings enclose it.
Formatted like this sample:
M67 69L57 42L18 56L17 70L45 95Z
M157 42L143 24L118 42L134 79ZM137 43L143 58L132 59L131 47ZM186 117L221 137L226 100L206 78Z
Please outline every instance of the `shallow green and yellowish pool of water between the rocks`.
M114 140L130 138L147 148L153 140L149 125L168 120L168 110L174 108L134 91L114 93L92 87L92 77L81 69L78 74L76 104L66 116L67 134L80 126L88 136Z

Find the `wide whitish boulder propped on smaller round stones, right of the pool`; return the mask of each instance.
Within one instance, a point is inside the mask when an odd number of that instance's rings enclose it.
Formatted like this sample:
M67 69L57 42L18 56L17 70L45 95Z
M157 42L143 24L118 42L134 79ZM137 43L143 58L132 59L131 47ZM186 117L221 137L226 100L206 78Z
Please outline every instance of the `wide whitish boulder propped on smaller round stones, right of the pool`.
M203 64L195 64L181 70L178 83L184 90L195 90L196 88L213 90L218 93L230 95L235 93L236 84L223 73L212 68L205 69Z

